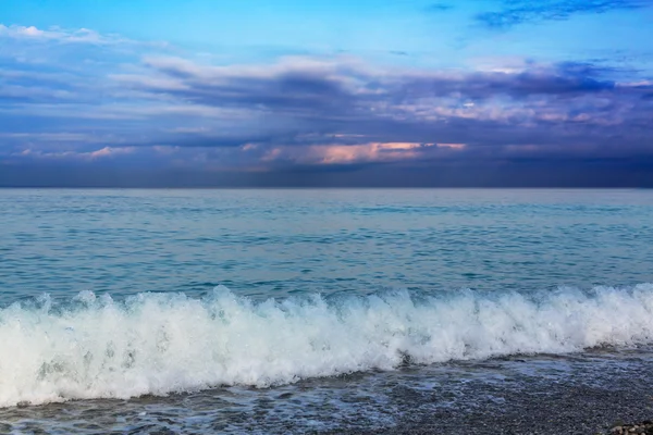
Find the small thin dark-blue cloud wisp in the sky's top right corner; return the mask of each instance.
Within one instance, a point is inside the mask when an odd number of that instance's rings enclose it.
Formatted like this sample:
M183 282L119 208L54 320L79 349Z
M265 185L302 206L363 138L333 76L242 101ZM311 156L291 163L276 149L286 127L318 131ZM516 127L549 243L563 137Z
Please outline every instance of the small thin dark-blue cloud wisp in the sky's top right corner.
M607 13L653 5L651 0L504 0L500 11L483 12L476 20L494 29L525 23L568 20L581 13Z

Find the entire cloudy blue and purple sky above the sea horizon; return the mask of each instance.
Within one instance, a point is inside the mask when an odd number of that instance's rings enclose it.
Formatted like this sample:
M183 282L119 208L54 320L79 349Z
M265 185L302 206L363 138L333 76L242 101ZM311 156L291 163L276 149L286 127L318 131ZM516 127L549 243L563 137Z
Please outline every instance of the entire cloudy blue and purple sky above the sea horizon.
M653 187L653 0L2 0L2 186Z

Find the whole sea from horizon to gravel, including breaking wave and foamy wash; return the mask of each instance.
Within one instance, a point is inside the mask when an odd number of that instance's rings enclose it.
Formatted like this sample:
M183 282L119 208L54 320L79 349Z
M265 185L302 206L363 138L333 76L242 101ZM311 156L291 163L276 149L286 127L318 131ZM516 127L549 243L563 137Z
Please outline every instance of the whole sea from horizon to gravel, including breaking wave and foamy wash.
M0 433L383 431L600 384L653 362L652 265L652 190L0 189Z

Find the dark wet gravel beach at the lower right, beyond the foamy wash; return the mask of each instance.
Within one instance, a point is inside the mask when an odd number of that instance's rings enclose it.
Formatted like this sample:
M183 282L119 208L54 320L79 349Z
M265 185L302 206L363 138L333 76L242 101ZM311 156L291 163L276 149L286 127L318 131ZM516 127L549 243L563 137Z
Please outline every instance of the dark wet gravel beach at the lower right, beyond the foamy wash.
M513 365L518 362L513 363ZM451 406L428 407L402 400L403 417L383 431L341 434L653 434L653 364L632 357L594 364L578 358L560 376L513 377L501 383L465 383ZM444 390L421 400L442 401ZM645 424L644 424L645 422Z

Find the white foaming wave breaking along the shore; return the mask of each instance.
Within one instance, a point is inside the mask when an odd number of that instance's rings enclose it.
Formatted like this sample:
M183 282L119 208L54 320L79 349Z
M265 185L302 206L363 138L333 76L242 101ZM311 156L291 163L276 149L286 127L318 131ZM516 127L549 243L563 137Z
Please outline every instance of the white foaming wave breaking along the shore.
M653 285L525 296L407 291L254 303L224 287L201 300L84 293L67 309L0 310L0 407L263 387L370 369L653 339Z

